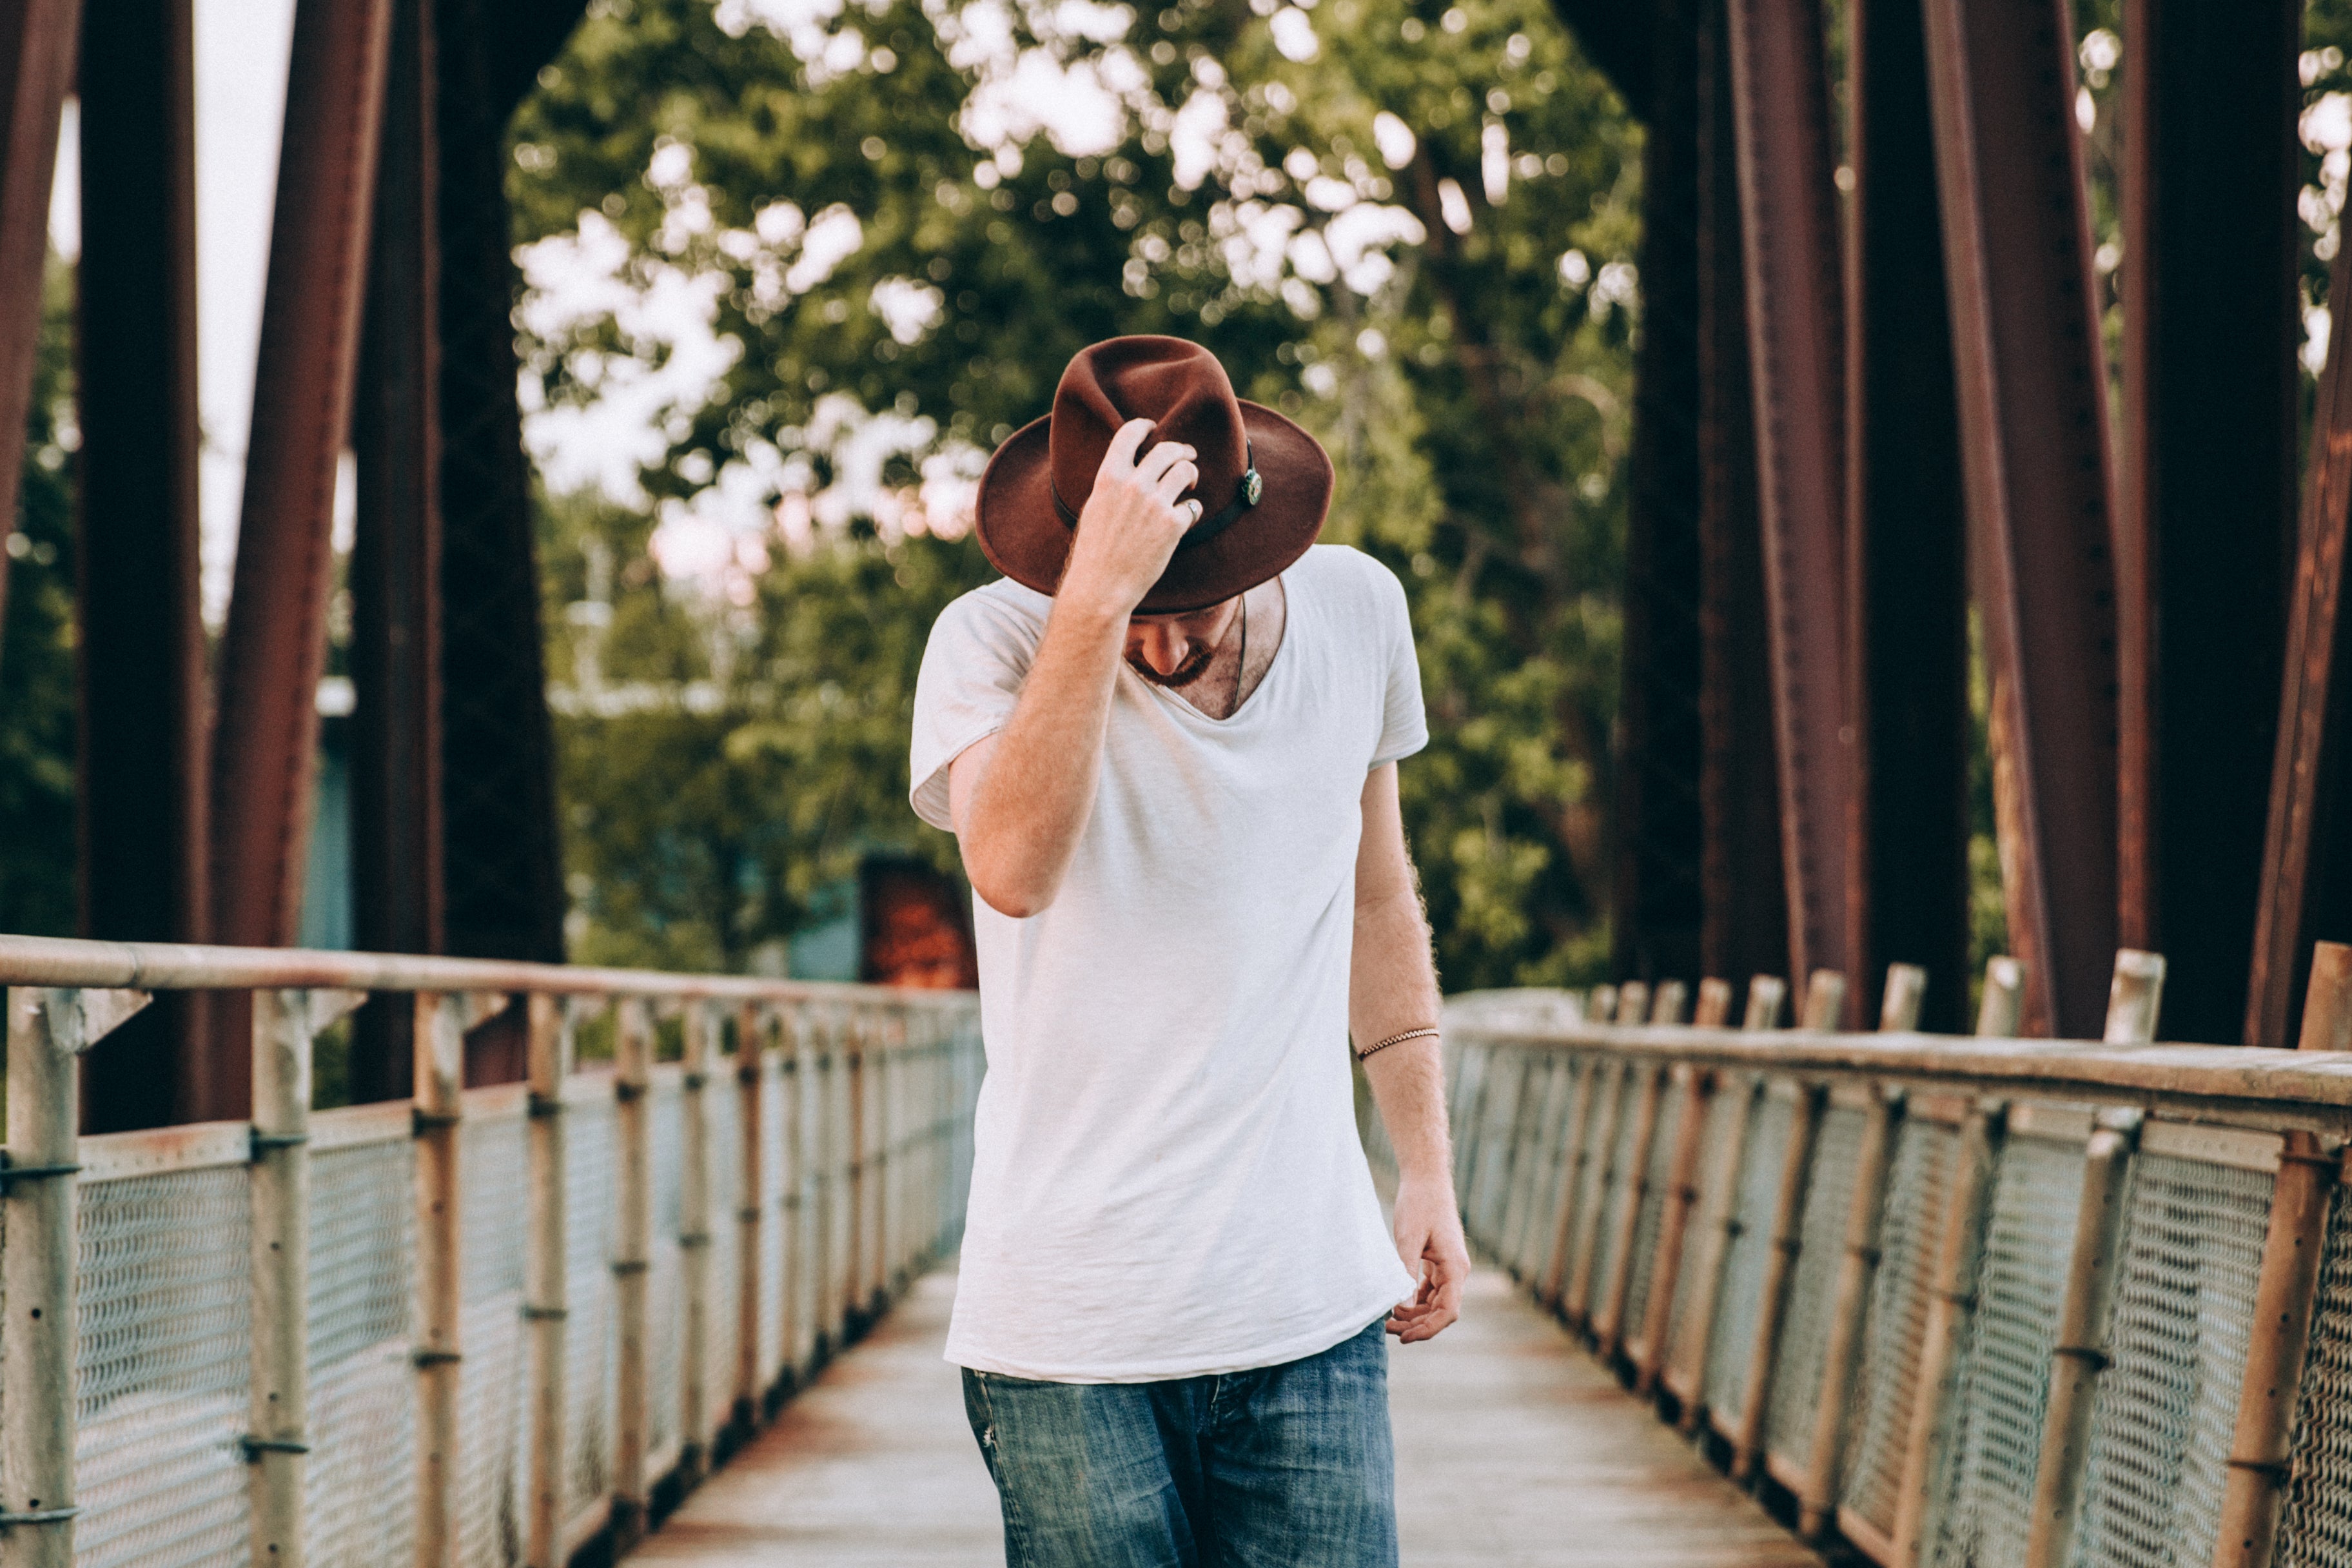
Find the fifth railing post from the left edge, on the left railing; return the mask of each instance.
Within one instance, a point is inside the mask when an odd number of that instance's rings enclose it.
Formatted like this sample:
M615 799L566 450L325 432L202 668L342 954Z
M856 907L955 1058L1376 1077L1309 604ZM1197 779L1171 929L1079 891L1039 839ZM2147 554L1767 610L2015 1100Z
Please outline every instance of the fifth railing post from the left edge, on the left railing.
M644 999L623 997L614 1030L614 1119L621 1138L616 1234L612 1258L619 1368L614 1396L614 1556L644 1535L644 1448L652 1399L644 1345L644 1286L654 1267L654 1159L647 1095L654 1067L654 1018Z

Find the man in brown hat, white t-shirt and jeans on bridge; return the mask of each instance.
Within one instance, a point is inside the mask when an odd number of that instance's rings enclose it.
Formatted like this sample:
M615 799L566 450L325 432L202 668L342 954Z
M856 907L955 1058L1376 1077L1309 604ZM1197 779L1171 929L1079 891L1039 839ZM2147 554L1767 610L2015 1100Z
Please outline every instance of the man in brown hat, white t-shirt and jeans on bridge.
M924 651L913 802L962 844L988 1039L948 1359L1014 1568L1397 1561L1383 1326L1451 1324L1468 1253L1411 625L1310 548L1329 501L1207 350L1096 343L981 480L1007 581Z

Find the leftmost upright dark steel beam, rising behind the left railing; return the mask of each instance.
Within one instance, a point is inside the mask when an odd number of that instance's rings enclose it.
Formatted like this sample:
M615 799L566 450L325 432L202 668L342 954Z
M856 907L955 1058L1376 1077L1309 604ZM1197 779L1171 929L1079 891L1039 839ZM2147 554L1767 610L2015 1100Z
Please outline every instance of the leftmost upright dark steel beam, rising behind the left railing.
M195 85L188 0L87 0L82 259L82 931L209 938L198 564ZM202 1018L155 1006L92 1051L89 1131L205 1103Z

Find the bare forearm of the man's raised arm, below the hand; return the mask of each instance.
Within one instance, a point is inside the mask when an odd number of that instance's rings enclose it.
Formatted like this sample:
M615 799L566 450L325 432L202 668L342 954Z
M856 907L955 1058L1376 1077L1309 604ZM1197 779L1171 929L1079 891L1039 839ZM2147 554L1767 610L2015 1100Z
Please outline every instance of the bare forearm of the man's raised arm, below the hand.
M1103 771L1127 618L1058 599L960 823L964 872L990 907L1054 903Z

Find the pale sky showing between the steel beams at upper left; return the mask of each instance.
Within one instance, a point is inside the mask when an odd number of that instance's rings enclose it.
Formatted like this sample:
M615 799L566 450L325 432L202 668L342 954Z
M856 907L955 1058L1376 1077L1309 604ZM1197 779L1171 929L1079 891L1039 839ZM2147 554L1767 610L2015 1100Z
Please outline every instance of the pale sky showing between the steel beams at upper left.
M195 0L195 360L205 428L198 505L212 623L228 607L238 550L292 42L294 0ZM80 252L73 106L59 136L49 237L64 256Z

